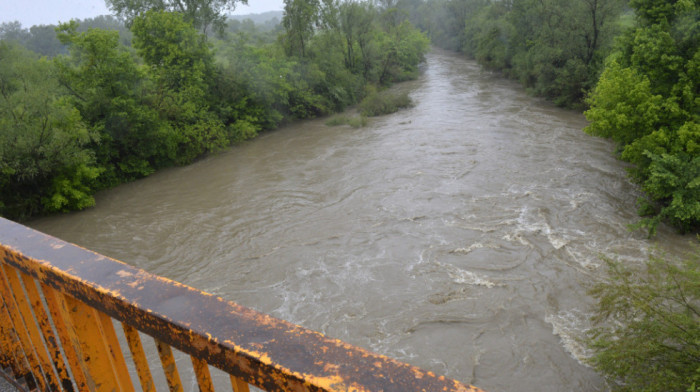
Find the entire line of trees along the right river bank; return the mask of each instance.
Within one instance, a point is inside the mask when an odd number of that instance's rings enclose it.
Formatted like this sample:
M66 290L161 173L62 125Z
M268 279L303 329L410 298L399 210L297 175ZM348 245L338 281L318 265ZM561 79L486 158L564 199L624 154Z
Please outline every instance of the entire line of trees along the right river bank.
M700 226L698 0L398 0L434 45L588 109L645 196L637 225Z

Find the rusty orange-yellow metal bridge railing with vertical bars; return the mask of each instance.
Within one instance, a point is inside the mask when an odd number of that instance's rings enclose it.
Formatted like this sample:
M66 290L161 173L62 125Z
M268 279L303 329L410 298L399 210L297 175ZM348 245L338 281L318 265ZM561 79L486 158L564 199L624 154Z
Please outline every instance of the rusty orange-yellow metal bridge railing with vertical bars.
M200 391L213 391L209 366L234 392L479 391L2 218L0 295L0 373L22 389L133 391L114 319L144 391L156 385L140 333L170 391L183 390L173 347Z

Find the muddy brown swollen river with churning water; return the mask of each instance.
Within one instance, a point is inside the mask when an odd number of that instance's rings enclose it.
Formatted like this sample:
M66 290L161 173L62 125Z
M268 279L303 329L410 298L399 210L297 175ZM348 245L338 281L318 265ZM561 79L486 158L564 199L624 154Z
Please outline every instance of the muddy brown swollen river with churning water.
M415 107L294 123L30 225L487 391L606 390L577 341L601 255L688 239L627 229L638 190L582 114L442 51L396 89Z

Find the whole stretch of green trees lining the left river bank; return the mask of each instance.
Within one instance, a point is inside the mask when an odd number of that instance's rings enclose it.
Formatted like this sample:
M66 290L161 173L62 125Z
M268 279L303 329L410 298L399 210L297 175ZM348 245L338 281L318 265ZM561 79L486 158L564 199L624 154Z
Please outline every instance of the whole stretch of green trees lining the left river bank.
M234 3L114 0L120 19L53 35L0 26L0 214L82 209L97 190L340 111L415 77L428 49L369 1L286 0L277 29L227 26Z

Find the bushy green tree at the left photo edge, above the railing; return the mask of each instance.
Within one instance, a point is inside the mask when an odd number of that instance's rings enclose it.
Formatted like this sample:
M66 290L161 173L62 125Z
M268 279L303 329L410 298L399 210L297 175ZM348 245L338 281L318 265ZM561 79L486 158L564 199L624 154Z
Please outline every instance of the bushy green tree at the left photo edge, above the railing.
M52 63L0 42L0 213L21 219L93 205L93 136Z

